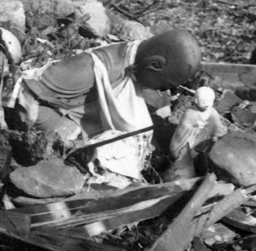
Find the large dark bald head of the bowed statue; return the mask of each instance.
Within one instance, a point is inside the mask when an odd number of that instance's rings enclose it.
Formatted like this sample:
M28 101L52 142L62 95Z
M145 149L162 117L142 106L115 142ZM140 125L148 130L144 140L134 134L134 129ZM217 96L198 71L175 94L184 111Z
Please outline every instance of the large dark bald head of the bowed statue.
M133 71L143 88L167 90L183 85L200 60L197 41L185 30L171 30L142 41Z

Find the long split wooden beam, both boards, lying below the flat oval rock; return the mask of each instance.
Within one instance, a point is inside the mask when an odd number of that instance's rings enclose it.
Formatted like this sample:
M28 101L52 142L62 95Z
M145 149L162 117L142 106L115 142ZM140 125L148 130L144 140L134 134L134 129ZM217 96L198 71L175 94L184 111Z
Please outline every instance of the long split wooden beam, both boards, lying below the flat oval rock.
M124 214L127 214L125 222L131 223L129 218L131 220L133 218L132 222L136 222L160 215L186 191L194 189L200 180L200 178L194 178L165 184L139 186L133 189L124 189L127 192L122 195L117 192L117 196L98 200L62 201L17 208L12 211L31 215L32 229L42 226L67 228L109 218L124 218Z

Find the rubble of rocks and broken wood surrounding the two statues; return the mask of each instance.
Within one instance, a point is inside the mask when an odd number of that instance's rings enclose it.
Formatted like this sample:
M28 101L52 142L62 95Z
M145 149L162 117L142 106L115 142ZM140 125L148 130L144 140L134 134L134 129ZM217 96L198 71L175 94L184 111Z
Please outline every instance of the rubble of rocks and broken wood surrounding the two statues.
M23 52L10 63L0 51L1 85L7 81L0 104L13 102L8 92L15 92L11 84L21 75L9 72L9 64L23 71L44 67L95 46L150 38L165 23L150 29L139 20L161 1L143 10L134 1L122 2L0 0L1 29L15 34ZM172 11L178 2L163 6ZM61 132L38 131L25 123L28 118L18 120L11 105L5 107L6 118L0 113L1 238L31 245L24 250L255 250L256 98L246 100L243 92L254 90L255 79L253 65L203 63L187 87L145 91L154 125L132 133L109 130L88 141L65 123ZM213 108L227 132L196 154L187 143L182 158L172 159L173 133L194 105L194 89L203 85L215 91ZM151 130L150 143L150 136L140 133Z

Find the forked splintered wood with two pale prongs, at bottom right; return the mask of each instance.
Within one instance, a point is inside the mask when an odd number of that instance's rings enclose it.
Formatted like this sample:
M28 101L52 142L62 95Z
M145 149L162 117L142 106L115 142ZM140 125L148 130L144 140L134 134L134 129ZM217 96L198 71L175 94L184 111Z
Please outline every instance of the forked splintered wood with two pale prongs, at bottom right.
M211 174L204 180L181 214L155 241L150 251L183 251L195 236L243 204L249 199L248 194L256 189L256 186L238 189L213 205L207 213L194 218L196 209L199 209L205 201L203 196L214 186L214 178L215 175Z

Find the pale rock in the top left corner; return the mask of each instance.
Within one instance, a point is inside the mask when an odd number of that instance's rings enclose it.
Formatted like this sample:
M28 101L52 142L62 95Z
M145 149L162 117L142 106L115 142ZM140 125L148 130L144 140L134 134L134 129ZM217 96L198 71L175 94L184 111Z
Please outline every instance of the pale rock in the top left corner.
M11 26L25 31L26 16L20 1L0 0L0 22L10 20Z

